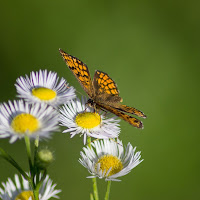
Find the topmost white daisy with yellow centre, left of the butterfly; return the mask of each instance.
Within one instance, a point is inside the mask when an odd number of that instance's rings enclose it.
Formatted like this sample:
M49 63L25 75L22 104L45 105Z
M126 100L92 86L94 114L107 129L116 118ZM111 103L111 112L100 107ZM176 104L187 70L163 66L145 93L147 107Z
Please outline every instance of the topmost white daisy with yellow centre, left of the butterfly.
M59 77L55 72L40 70L31 72L30 77L19 77L16 80L18 97L29 103L44 102L51 106L59 106L76 97L75 89Z

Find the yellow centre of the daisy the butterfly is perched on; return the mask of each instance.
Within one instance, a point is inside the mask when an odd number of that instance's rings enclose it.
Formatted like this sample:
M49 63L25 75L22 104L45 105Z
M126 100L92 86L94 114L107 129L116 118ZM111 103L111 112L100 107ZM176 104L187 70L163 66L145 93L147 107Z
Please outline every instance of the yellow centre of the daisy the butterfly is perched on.
M84 112L76 116L76 124L82 128L94 128L101 123L101 116L98 113Z

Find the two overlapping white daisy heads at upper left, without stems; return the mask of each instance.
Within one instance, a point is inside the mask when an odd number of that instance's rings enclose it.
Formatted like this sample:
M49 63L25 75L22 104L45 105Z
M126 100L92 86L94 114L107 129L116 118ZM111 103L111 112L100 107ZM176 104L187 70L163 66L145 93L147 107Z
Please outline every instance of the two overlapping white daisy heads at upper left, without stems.
M0 105L0 138L9 137L13 143L25 136L49 138L58 131L57 107L75 98L75 89L47 70L19 77L15 86L21 99Z

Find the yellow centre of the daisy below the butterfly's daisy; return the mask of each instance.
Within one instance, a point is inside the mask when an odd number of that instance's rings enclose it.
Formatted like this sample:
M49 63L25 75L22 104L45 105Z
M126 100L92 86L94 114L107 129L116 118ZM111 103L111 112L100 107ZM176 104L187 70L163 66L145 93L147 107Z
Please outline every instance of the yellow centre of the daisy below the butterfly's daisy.
M118 157L113 156L113 155L104 155L101 158L99 158L98 162L96 163L96 169L97 169L98 163L100 163L100 169L103 172L105 170L106 173L112 167L108 176L112 176L112 175L120 172L123 169L121 160Z

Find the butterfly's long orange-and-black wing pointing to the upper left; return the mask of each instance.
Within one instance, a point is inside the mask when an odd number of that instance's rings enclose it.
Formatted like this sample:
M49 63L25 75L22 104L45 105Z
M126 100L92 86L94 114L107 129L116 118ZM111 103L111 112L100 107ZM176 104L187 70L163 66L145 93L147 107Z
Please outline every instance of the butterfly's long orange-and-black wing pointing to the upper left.
M62 49L59 49L59 51L65 63L80 82L85 92L89 95L89 97L92 97L94 94L94 89L87 65L78 58L65 53Z

